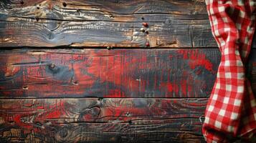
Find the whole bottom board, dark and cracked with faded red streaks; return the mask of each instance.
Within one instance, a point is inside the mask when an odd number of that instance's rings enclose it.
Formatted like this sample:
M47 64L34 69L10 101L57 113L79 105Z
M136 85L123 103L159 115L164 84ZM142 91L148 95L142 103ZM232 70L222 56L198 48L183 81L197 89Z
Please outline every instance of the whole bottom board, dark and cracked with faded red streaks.
M207 99L0 99L1 142L202 142Z

